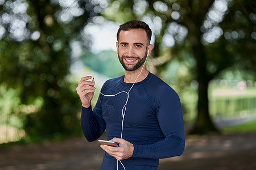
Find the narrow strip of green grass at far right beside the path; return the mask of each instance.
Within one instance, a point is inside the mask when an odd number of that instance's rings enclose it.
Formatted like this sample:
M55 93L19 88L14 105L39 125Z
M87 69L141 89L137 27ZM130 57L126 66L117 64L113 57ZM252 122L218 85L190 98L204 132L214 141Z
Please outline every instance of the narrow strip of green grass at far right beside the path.
M224 133L249 133L256 132L256 118L238 125L226 126L222 129Z

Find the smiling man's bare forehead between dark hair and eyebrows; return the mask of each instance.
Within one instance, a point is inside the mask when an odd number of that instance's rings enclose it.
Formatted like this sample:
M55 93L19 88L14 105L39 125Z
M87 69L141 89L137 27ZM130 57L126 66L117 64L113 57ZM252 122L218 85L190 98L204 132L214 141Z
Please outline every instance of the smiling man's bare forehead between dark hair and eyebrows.
M129 31L121 31L119 34L119 42L142 42L146 44L147 33L144 29L130 29Z

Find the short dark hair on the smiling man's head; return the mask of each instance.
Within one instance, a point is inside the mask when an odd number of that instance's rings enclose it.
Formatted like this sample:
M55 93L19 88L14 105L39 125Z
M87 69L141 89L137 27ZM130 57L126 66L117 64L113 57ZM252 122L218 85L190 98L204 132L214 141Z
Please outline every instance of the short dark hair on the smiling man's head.
M119 41L119 34L120 32L123 31L129 31L130 29L144 29L147 33L147 41L148 45L150 44L151 36L152 36L152 31L148 24L140 21L140 20L131 20L129 22L126 22L124 24L121 24L119 26L119 29L117 31L117 41Z

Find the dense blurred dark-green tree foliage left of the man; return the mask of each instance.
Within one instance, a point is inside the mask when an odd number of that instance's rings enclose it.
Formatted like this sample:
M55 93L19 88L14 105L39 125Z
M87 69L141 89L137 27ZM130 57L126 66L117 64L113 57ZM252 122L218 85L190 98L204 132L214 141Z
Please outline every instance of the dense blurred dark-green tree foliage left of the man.
M77 84L67 79L71 44L89 44L80 33L99 14L100 3L3 0L0 9L0 83L14 88L28 108L13 114L24 117L24 130L33 138L79 133Z

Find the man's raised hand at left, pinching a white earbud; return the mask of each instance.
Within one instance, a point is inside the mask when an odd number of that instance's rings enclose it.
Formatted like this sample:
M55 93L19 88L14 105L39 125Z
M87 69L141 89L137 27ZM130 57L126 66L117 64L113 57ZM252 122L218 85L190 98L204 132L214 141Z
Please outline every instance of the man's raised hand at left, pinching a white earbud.
M92 101L95 91L94 80L92 80L92 82L87 81L91 78L92 76L85 76L81 78L80 83L76 88L77 94L79 95L82 102L82 106L85 108L88 108L90 106L90 101Z

